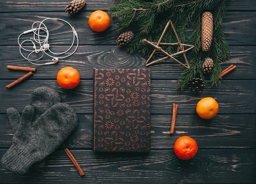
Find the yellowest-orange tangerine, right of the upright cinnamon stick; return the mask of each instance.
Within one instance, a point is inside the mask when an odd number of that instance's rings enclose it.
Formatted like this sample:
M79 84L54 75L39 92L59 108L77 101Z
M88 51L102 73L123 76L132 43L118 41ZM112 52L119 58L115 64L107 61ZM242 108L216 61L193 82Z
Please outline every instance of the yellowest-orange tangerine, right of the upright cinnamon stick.
M196 105L198 116L203 119L211 119L218 113L219 105L212 97L201 99Z

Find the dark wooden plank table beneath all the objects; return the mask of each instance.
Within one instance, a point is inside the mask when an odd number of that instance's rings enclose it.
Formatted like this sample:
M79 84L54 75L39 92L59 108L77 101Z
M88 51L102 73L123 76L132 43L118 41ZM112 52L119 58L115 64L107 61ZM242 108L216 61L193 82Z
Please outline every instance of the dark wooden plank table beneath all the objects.
M46 159L43 169L15 175L0 166L3 183L256 183L256 1L230 0L223 20L231 59L222 64L237 68L227 74L221 85L200 94L175 89L184 68L169 60L148 67L152 83L151 151L146 154L94 153L92 149L92 71L93 68L145 68L146 58L128 54L116 46L117 20L96 33L88 26L92 11L108 11L112 0L86 0L82 12L68 15L68 2L56 0L9 0L0 5L0 157L11 146L13 131L6 109L15 107L21 113L32 90L40 86L56 89L62 101L70 104L79 125L70 137ZM55 65L34 66L19 53L17 38L31 29L35 21L61 18L75 27L79 48L74 55ZM59 24L61 28L61 24ZM52 44L63 50L62 34L52 35ZM43 59L50 62L49 57ZM29 79L5 88L25 72L12 71L7 65L36 67ZM76 68L81 82L73 90L58 86L56 74L65 66ZM195 112L199 99L212 96L219 103L219 112L211 120L203 120ZM172 104L179 105L175 133L169 134ZM175 140L191 136L198 143L198 154L192 160L179 160L173 151ZM81 165L81 177L64 152L69 148Z

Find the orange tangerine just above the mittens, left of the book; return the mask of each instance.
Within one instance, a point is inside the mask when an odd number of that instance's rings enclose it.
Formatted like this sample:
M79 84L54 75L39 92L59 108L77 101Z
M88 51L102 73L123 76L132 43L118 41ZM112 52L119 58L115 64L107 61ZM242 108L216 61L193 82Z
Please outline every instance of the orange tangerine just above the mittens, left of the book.
M64 67L58 71L57 82L61 88L71 90L79 85L80 75L79 72L72 67Z

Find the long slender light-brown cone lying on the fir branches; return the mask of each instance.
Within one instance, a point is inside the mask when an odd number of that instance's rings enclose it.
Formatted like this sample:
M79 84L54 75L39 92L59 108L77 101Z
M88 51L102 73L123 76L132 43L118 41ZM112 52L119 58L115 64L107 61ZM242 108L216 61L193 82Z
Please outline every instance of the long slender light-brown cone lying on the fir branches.
M204 12L202 15L202 37L201 46L202 51L207 52L210 50L211 41L213 37L213 15L211 12Z

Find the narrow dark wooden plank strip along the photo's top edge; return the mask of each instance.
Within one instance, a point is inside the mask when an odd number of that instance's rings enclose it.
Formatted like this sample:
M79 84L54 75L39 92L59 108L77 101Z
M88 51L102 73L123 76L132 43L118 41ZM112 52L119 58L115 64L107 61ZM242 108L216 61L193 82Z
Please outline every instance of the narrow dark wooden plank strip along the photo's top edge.
M71 0L70 0L71 1ZM44 0L40 2L35 2L33 0L9 0L1 3L0 12L20 12L20 11L65 11L65 7L69 1L55 0L54 2L49 0ZM99 3L95 0L86 0L87 4L82 11L92 11L92 10L108 10L111 6L113 0L101 0ZM43 4L43 6L42 6ZM256 4L254 0L230 0L229 1L229 11L255 11Z

